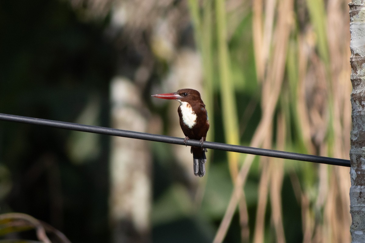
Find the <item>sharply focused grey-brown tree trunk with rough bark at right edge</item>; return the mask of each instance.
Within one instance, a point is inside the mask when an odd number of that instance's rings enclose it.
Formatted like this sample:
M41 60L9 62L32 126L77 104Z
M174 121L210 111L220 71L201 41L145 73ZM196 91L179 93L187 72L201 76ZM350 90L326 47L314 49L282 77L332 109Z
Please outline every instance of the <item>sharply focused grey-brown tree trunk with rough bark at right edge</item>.
M351 33L351 188L352 242L365 242L365 0L350 4Z

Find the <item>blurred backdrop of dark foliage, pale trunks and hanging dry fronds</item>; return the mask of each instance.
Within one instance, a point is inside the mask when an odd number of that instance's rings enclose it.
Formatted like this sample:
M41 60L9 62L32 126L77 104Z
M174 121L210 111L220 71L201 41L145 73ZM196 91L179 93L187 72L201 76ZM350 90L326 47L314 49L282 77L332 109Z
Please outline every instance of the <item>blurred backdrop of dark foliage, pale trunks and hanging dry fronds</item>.
M183 137L188 87L208 141L348 159L347 4L1 1L0 112ZM0 124L0 213L72 242L350 242L348 168Z

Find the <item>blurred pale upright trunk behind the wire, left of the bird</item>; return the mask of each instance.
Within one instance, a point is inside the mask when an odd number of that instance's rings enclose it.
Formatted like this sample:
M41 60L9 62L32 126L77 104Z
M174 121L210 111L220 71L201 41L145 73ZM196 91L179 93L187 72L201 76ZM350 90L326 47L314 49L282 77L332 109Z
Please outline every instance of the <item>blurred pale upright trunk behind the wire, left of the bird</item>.
M146 108L126 78L111 83L112 127L147 132ZM150 242L151 155L145 140L112 137L110 222L113 242Z

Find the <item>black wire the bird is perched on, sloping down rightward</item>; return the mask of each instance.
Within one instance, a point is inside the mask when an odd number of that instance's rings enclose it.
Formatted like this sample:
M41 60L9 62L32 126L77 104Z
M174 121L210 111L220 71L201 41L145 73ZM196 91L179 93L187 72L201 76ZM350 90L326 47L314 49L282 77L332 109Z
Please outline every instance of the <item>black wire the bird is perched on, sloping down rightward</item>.
M142 140L156 141L156 142L166 142L169 144L184 144L184 138L178 137L170 137L164 135L150 134L150 133L141 133L141 132L133 132L128 130L119 130L114 128L104 128L101 126L90 126L90 125L82 125L72 122L61 122L61 121L53 121L47 119L40 118L32 118L32 117L23 117L19 115L9 115L0 113L0 120L3 121L12 121L12 122L20 122L26 124L34 124L34 125L42 125L42 126L50 126L54 128L62 128L68 130L75 130L81 132L89 132L89 133L99 133L106 134L111 136L119 136L119 137L127 137L127 138L137 138ZM188 146L200 146L199 140L190 139L187 141ZM300 161L308 161L329 165L341 165L350 167L350 161L344 160L341 158L330 158L323 156L315 156L310 154L300 154L300 153L292 153L292 152L284 152L272 149L261 149L261 148L252 148L246 146L239 145L231 145L231 144L223 144L220 142L208 142L205 141L204 148L208 149L219 149L237 153L246 153L246 154L255 154L260 156L268 156L268 157L276 157L276 158L286 158L289 160L300 160Z

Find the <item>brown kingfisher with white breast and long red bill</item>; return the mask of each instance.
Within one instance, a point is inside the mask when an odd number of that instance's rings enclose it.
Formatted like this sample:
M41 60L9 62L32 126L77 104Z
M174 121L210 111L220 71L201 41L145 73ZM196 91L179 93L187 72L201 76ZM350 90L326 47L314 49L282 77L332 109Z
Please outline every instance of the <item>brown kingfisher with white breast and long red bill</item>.
M180 102L177 112L180 117L181 130L185 135L184 144L189 139L200 140L200 147L191 147L193 154L194 175L202 177L205 175L205 162L207 157L203 148L203 143L209 130L208 112L204 102L201 100L200 93L194 89L179 89L175 93L154 94L152 97L161 99L176 99Z

